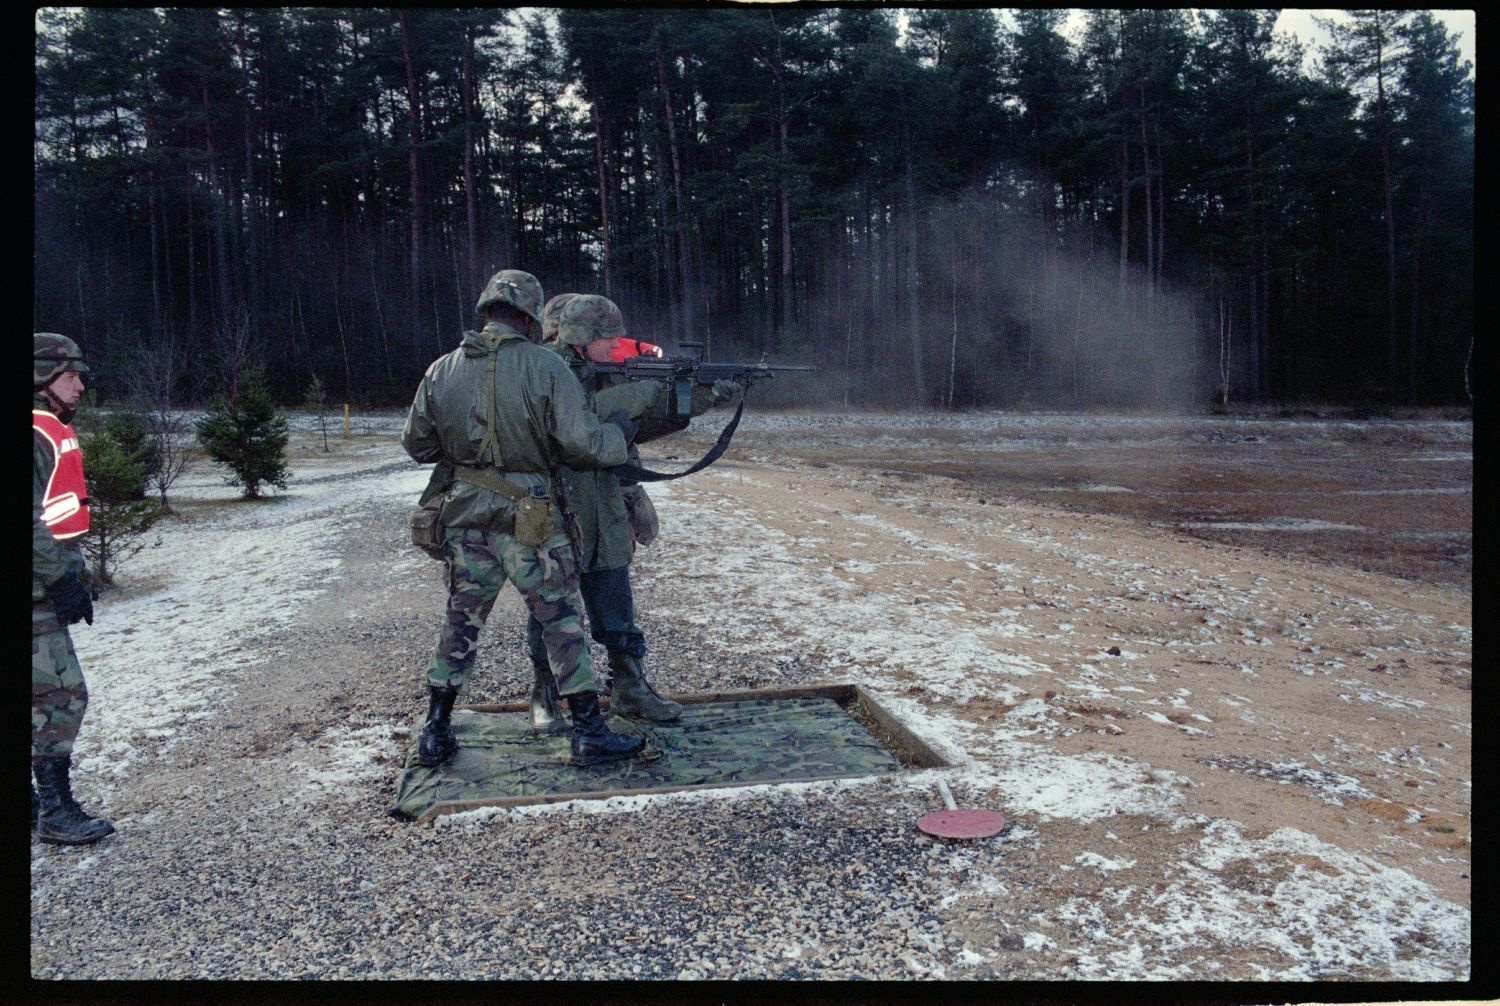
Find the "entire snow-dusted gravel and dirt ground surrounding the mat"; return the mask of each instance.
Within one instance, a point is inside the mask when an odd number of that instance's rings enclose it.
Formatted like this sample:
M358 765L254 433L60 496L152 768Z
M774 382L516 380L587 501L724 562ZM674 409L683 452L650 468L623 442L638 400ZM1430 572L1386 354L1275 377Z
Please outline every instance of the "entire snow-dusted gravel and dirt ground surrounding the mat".
M1470 424L752 409L650 490L651 678L858 682L951 768L435 828L387 814L441 609L399 427L300 417L262 504L195 469L75 631L118 834L33 843L33 976L1468 978ZM938 778L1011 829L921 834Z

